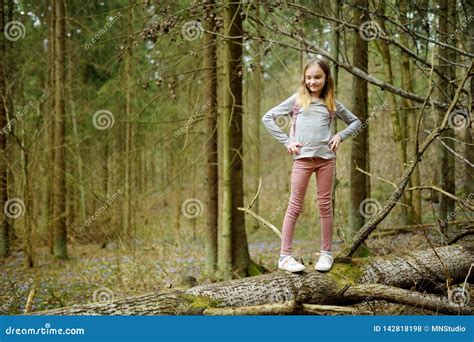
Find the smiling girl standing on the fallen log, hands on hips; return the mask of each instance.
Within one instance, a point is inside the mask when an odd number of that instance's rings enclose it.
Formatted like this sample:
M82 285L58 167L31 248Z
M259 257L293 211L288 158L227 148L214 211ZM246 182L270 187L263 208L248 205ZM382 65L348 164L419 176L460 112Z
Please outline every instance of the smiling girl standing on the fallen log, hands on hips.
M292 115L290 136L276 124L281 115ZM335 118L348 126L332 136L331 123ZM316 270L328 271L333 264L332 235L332 182L336 150L342 141L361 126L360 120L334 98L334 81L328 64L321 58L310 60L303 69L298 92L262 118L265 127L293 156L291 196L283 220L282 242L278 268L301 272L304 265L291 256L291 244L296 221L303 209L309 180L316 173L317 201L321 217L321 255Z

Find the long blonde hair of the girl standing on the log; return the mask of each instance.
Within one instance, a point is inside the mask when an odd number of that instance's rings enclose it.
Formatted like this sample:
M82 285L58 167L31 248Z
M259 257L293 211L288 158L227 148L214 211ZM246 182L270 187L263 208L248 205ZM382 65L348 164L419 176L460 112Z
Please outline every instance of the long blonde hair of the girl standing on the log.
M331 119L334 118L336 113L336 99L334 98L334 80L331 76L331 69L329 68L328 63L322 58L311 59L306 63L306 66L303 69L303 75L301 77L300 86L298 89L298 97L296 103L299 104L303 109L307 109L311 103L311 95L308 87L306 86L306 70L312 65L319 65L320 68L324 71L326 75L324 88L321 91L321 99L326 105Z

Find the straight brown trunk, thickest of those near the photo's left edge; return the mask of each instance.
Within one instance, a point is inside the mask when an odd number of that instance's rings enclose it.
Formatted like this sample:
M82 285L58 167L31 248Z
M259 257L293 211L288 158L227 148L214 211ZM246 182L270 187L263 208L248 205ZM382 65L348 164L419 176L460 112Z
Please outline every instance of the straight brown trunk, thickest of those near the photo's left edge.
M65 177L65 9L64 1L54 2L54 165L53 165L53 220L54 256L67 259L66 177Z

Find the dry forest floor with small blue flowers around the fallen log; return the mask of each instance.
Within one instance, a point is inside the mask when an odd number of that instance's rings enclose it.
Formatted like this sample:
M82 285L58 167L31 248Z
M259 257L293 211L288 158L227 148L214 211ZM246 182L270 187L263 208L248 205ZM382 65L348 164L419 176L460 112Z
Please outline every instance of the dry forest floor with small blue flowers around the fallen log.
M250 254L254 261L269 271L276 270L279 241L267 231L249 236ZM367 246L373 255L403 253L429 248L424 233L382 236L375 233ZM258 241L258 242L254 242ZM317 259L314 242L294 240L294 255L313 271ZM341 243L335 241L337 252ZM32 288L36 289L31 311L53 309L73 304L103 303L112 299L179 287L186 276L198 284L210 280L204 275L203 245L196 241L180 244L163 243L154 247L138 247L135 252L113 245L71 245L69 260L55 260L46 247L36 249L36 265L25 269L22 251L14 252L0 264L0 314L21 314ZM430 314L423 310L383 301L358 306L374 314Z

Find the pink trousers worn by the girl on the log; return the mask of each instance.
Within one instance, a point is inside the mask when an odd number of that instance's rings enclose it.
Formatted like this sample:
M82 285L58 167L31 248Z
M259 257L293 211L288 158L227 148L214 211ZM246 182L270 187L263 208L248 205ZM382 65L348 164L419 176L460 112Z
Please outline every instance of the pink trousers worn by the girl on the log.
M321 250L331 250L332 239L332 182L336 159L319 157L300 158L293 162L291 196L283 220L281 254L291 254L296 221L303 210L304 197L311 175L316 173L317 202L321 218Z

